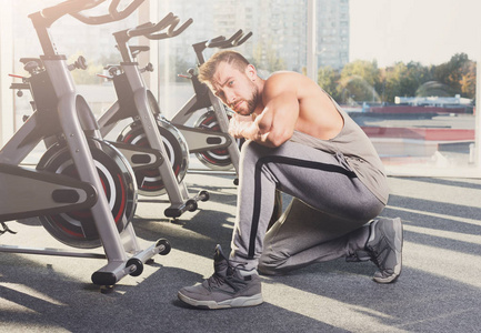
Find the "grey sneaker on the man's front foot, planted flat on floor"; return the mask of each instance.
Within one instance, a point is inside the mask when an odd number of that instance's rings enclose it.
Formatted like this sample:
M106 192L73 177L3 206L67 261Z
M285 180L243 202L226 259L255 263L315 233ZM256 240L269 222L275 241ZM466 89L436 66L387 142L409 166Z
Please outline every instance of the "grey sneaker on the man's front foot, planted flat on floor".
M214 273L201 284L182 287L179 300L203 309L253 306L262 303L261 280L255 270L245 271L232 266L216 246Z

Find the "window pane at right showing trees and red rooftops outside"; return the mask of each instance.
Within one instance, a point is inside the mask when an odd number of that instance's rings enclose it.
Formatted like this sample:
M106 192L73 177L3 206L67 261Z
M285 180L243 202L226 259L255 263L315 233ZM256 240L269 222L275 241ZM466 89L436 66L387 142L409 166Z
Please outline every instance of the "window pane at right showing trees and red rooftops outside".
M480 9L469 0L350 1L350 62L332 92L391 174L479 174Z

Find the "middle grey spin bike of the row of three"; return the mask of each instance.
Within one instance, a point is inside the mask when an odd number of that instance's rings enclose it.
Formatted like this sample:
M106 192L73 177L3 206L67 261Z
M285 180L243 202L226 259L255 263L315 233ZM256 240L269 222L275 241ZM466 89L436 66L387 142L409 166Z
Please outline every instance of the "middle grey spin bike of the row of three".
M164 210L166 216L177 219L186 211L196 211L198 201L207 201L209 193L200 191L197 195L189 198L182 180L188 168L188 148L182 134L163 118L153 118L159 114L159 105L150 90L146 88L141 73L152 71L152 64L140 69L136 57L148 51L149 47L130 47L128 41L133 37L143 36L151 40L172 38L184 31L192 19L177 28L179 18L169 13L157 24L144 23L137 28L127 29L113 33L117 48L122 62L120 65L107 65L109 75L103 78L113 81L118 95L109 110L103 113L98 122L100 132L107 135L118 123L124 119L132 119L118 137L117 142L111 142L126 157L134 169L139 193L149 196L160 195L167 192L171 205ZM160 32L167 30L166 32ZM151 151L152 155L160 152L157 161L151 160L143 163L136 153L130 151ZM132 157L132 158L130 158ZM164 162L168 160L169 162ZM142 162L142 163L141 163Z

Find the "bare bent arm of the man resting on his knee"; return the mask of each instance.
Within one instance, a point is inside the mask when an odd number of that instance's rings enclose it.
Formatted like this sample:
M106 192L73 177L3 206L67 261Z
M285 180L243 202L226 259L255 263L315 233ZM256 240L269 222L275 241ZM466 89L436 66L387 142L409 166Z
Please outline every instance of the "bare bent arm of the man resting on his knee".
M294 132L299 102L292 73L277 73L265 81L262 92L264 108L248 119L234 115L229 132L236 138L253 140L267 147L279 147Z

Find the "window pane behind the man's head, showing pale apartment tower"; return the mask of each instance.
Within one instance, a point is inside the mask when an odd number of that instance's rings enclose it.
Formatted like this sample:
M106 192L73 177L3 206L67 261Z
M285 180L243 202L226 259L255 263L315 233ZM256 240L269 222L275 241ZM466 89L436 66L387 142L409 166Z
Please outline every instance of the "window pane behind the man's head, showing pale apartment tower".
M230 38L237 31L252 37L236 48L257 65L261 75L275 70L305 68L307 1L163 1L159 18L168 12L181 22L193 19L181 36L159 41L159 100L167 117L173 115L192 93L191 83L178 74L196 68L198 59L192 46L216 37ZM206 49L209 58L218 49Z

